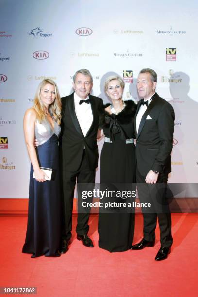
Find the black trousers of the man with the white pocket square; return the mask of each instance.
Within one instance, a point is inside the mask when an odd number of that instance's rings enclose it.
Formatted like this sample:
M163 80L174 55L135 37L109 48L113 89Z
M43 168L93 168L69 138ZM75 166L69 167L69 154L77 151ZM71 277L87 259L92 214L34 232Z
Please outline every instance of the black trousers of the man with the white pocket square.
M144 218L144 239L155 240L155 228L157 218L160 227L160 242L162 247L171 247L173 238L171 235L171 214L166 199L166 185L168 175L159 173L156 184L147 184L145 176L136 169L136 182L140 203L150 203L151 208L142 209Z

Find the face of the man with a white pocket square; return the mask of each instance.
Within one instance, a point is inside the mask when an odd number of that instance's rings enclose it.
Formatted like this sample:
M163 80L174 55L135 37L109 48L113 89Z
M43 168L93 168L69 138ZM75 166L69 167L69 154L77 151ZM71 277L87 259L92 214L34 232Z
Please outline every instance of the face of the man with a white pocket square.
M140 73L137 78L139 96L144 99L151 97L155 92L156 84L156 82L152 81L150 73Z

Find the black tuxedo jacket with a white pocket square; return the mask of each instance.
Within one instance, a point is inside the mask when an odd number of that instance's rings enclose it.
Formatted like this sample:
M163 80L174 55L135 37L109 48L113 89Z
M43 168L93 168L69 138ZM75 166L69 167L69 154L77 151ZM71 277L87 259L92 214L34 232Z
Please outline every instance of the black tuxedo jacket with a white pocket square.
M149 170L160 173L171 172L171 151L173 144L174 119L173 107L155 93L142 116L138 133L135 114L137 168L146 176ZM151 119L148 119L150 117Z

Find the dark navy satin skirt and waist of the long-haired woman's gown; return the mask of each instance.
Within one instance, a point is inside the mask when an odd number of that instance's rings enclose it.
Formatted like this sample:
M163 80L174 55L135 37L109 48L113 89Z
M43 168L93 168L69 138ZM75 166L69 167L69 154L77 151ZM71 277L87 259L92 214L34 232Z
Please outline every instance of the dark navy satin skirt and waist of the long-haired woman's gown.
M58 256L61 200L57 135L53 134L45 143L37 147L37 157L41 167L52 168L53 171L51 181L38 182L33 178L31 164L28 226L22 252L33 254L32 258L41 255Z

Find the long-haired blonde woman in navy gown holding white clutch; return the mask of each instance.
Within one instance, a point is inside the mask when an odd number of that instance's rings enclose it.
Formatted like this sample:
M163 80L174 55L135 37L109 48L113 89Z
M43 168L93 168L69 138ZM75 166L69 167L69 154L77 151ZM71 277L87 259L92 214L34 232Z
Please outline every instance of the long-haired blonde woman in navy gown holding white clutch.
M52 80L43 80L37 89L33 107L25 112L24 134L31 161L28 226L23 253L32 258L59 256L60 185L58 136L61 123L61 99ZM34 147L34 139L38 146ZM44 172L42 168L47 168ZM50 171L52 175L50 179ZM34 176L34 177L33 177Z

